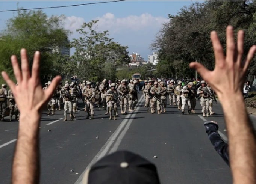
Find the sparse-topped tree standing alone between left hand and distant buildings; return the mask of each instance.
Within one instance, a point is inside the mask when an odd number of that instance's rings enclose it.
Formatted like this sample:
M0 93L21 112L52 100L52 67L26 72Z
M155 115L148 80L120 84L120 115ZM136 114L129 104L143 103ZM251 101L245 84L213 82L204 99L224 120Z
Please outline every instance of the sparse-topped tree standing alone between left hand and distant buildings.
M129 63L127 47L112 41L108 31L97 32L95 26L98 20L83 23L77 32L78 39L73 39L71 45L76 49L73 59L79 63L77 75L89 80L116 78L116 67Z

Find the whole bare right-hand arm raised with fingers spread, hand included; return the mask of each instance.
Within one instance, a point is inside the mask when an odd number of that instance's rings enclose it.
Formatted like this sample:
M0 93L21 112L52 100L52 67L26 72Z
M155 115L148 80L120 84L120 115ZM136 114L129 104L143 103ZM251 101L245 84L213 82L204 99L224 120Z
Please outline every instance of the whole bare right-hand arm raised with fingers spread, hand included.
M193 62L190 66L197 69L204 80L210 84L222 104L229 138L233 183L255 184L256 136L246 111L241 89L256 46L253 45L250 48L243 62L244 32L242 30L238 32L237 45L235 45L232 26L227 27L226 34L227 52L224 56L217 33L211 32L215 55L214 71L209 71L200 63Z

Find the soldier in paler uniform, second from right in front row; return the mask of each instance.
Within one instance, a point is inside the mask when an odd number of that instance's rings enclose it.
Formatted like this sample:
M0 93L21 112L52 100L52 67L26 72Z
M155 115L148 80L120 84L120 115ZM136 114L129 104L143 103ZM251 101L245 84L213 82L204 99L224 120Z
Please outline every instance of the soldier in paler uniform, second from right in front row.
M185 106L188 105L188 114L191 114L191 103L190 103L190 96L191 96L191 87L193 86L192 82L189 82L188 85L185 85L182 88L182 94L181 100L182 100L182 106L181 106L181 113L184 114L185 112Z

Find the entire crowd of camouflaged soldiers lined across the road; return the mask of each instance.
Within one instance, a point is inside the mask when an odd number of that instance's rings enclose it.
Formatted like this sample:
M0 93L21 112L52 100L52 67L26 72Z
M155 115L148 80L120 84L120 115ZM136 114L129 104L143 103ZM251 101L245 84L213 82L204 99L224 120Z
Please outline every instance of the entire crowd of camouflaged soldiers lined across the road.
M128 83L129 82L129 83ZM181 113L185 113L187 106L188 114L195 114L196 99L200 97L203 116L214 115L212 110L213 100L215 99L214 92L211 87L204 81L187 82L177 80L161 80L150 79L144 81L142 91L144 92L145 107L147 112L152 114L158 112L166 112L167 97L169 105L177 105ZM45 83L43 89L47 89L51 82ZM102 106L106 110L106 115L109 114L110 120L115 120L118 116L117 106L120 105L121 114L126 114L135 110L138 103L139 81L126 79L118 80L117 83L112 83L111 80L104 79L101 83L92 84L90 81L83 81L78 84L76 80L71 83L68 81L62 86L60 83L53 97L50 99L47 109L48 115L55 114L56 110L61 110L61 104L64 104L64 121L67 121L68 113L70 120L75 118L77 112L78 100L82 99L86 119L94 119L94 108ZM11 90L6 89L6 84L2 84L0 89L0 118L3 121L6 115L6 107L9 105L10 121L13 116L18 120L19 112L17 104Z

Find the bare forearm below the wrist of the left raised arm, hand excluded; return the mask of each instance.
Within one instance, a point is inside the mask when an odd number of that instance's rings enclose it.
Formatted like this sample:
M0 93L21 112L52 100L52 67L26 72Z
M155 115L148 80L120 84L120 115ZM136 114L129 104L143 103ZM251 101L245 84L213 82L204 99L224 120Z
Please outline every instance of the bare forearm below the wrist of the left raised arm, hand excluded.
M39 183L39 121L38 113L21 113L12 166L13 184Z

